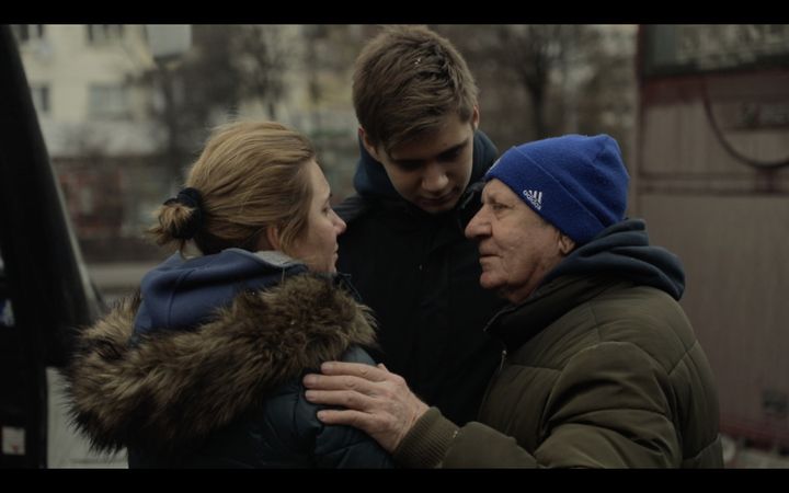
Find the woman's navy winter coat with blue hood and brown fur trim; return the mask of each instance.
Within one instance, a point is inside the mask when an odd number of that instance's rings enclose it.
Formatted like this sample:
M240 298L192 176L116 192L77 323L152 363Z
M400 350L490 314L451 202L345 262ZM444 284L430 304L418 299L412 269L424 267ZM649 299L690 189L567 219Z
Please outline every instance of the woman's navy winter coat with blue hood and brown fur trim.
M79 336L71 413L129 467L381 468L364 433L325 426L301 377L329 359L374 364L368 309L342 277L277 254L228 249L148 273Z

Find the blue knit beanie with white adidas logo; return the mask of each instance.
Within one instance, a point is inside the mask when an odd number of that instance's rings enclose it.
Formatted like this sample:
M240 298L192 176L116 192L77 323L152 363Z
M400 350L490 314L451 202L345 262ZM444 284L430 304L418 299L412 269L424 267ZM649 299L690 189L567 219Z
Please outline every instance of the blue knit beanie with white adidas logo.
M485 173L559 231L584 244L625 217L628 173L607 135L565 135L516 146Z

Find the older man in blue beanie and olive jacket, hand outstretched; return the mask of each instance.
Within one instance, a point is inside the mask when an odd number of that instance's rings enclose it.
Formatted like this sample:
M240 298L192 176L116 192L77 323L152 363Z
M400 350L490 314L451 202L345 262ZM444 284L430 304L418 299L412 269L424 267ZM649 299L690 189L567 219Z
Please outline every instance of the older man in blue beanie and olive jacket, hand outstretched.
M485 328L506 352L478 421L456 425L384 367L335 362L305 377L308 400L347 408L319 419L364 429L407 467L722 467L682 264L625 219L616 141L525 144L485 181L466 236L482 287L511 305Z

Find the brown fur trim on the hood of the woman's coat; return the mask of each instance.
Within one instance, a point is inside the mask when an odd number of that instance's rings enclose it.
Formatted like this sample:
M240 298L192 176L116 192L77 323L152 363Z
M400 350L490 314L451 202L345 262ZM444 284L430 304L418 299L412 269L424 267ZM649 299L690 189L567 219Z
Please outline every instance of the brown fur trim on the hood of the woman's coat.
M374 321L335 280L300 274L243 291L191 331L130 344L136 296L81 332L66 370L71 415L98 449L197 444L307 369L374 345Z

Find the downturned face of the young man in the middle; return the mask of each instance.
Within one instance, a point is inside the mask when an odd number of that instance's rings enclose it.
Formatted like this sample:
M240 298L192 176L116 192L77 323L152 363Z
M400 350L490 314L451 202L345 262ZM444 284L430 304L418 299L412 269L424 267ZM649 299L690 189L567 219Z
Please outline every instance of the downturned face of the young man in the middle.
M470 122L450 115L438 130L398 146L390 153L382 147L369 146L364 135L362 141L384 164L395 190L404 199L425 213L438 214L455 207L471 180L473 133L478 123L477 108Z

